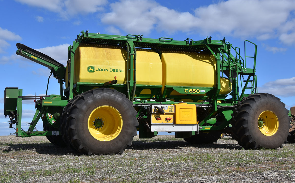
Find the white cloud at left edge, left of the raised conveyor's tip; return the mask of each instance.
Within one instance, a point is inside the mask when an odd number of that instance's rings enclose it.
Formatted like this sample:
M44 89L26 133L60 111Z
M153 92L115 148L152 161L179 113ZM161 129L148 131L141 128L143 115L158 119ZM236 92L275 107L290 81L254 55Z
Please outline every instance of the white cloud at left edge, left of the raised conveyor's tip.
M10 44L7 43L7 41L15 41L21 39L22 38L14 32L11 32L7 29L2 29L0 27L0 53L4 53L4 50L10 46Z

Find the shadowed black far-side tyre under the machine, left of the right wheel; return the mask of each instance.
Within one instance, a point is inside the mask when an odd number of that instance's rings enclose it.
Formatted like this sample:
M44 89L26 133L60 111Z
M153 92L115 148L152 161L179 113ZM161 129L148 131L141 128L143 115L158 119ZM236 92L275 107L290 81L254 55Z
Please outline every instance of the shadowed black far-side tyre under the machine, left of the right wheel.
M221 137L221 132L199 132L198 135L193 135L188 138L183 138L188 143L191 144L208 144L217 142L217 140Z

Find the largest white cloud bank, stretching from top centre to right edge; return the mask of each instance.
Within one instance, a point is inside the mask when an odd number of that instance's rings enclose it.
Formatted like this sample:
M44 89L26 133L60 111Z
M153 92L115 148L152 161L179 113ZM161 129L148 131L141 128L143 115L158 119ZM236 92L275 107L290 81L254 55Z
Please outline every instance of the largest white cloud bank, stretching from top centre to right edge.
M201 35L218 33L236 37L256 37L266 40L294 31L295 10L293 0L229 0L196 8L194 13L168 9L155 1L121 0L110 4L111 12L101 17L101 22L138 34L152 30L195 32ZM141 8L138 8L141 7ZM194 8L194 7L191 7ZM131 17L131 18L130 18ZM128 20L128 21L126 21ZM289 33L295 39L295 35ZM294 42L294 41L293 41Z

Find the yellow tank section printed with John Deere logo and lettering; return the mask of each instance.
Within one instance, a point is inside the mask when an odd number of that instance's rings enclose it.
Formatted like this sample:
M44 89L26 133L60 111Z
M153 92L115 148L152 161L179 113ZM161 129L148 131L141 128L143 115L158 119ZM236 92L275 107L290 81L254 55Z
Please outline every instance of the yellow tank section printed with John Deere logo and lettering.
M105 83L114 80L114 76L118 84L126 83L127 53L123 48L81 44L74 58L74 83Z

